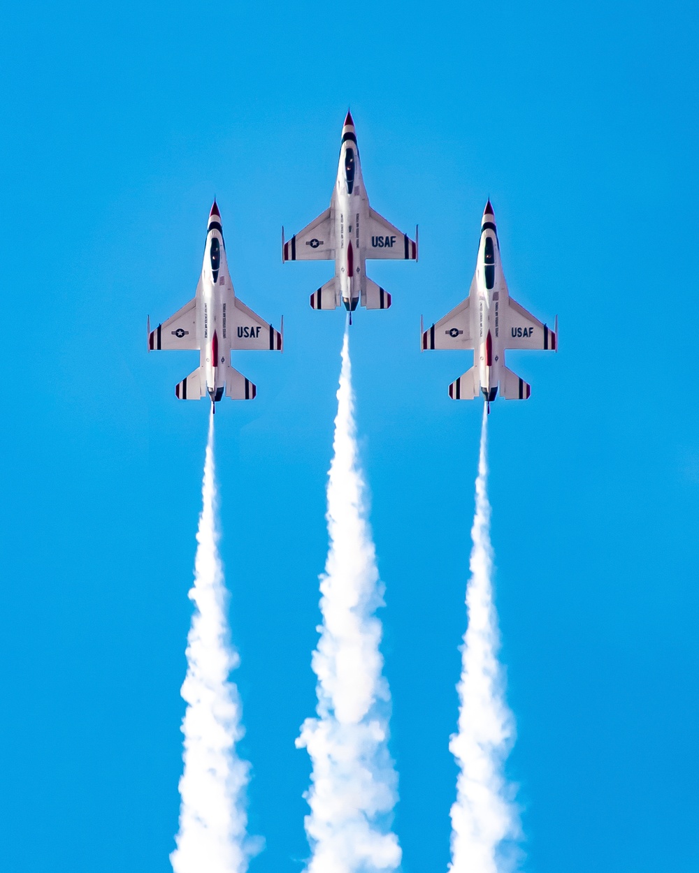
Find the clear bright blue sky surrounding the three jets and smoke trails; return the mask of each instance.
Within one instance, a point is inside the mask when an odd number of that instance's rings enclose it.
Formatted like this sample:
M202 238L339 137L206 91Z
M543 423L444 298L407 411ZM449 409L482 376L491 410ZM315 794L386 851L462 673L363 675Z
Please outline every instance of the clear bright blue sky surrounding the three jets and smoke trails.
M348 106L372 206L420 225L351 338L405 873L448 860L481 417L419 316L465 296L488 196L510 292L560 317L490 417L527 870L699 869L697 31L681 0L4 10L3 870L170 870L207 406L145 321L192 296L214 194L239 297L285 315L285 354L234 361L259 395L221 404L218 471L251 873L301 870L343 315L280 225L327 207Z

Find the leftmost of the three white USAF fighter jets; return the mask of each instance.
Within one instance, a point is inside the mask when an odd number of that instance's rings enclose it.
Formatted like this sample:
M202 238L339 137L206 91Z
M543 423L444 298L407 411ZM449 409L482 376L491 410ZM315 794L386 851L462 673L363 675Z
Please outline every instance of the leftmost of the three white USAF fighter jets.
M148 348L197 349L199 366L179 382L175 394L180 400L200 400L205 395L216 403L224 393L232 400L253 400L257 388L231 366L231 350L263 349L280 352L281 333L253 313L235 296L228 262L221 215L214 200L204 244L204 264L194 297L154 331L148 320Z

